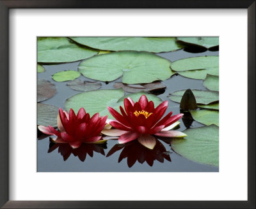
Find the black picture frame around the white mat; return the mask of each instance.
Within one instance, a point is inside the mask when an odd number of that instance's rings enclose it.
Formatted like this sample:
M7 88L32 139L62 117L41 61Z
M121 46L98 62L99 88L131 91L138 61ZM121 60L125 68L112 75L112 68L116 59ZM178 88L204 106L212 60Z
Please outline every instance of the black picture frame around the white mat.
M0 0L0 206L2 208L255 208L255 0ZM245 8L248 11L248 201L9 201L8 13L10 8Z

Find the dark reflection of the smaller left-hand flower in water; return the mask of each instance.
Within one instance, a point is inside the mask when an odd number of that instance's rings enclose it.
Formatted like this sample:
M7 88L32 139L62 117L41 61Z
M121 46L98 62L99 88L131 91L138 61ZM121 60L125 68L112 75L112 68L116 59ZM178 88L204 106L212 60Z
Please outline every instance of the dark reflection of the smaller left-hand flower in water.
M82 143L78 148L72 148L68 143L51 142L48 153L52 152L56 148L58 148L58 152L63 156L64 161L67 161L68 157L73 154L74 156L77 156L80 161L84 162L87 154L90 155L90 157L93 157L93 152L99 152L100 154L105 155L104 149L107 148L107 145Z

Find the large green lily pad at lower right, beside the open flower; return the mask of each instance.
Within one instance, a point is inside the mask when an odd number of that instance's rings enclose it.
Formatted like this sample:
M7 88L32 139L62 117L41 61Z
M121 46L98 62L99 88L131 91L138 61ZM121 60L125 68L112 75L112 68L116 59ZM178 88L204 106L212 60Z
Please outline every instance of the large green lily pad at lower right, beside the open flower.
M219 166L219 127L195 127L182 131L185 138L171 141L172 149L187 159L202 164Z

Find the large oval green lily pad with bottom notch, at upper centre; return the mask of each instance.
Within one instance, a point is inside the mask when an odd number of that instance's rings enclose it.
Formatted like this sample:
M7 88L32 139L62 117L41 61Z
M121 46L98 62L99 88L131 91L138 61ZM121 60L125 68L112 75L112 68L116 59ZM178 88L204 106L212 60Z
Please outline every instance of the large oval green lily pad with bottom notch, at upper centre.
M79 72L88 78L109 82L120 76L127 84L166 80L174 73L170 61L148 52L113 52L97 55L79 64Z

